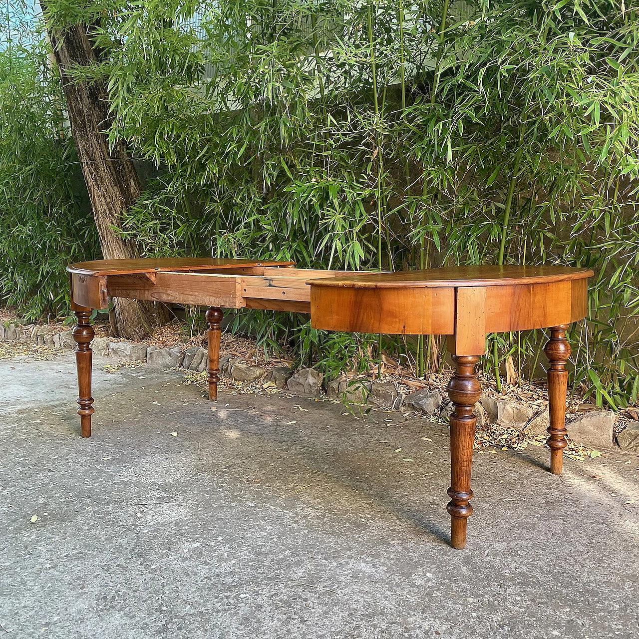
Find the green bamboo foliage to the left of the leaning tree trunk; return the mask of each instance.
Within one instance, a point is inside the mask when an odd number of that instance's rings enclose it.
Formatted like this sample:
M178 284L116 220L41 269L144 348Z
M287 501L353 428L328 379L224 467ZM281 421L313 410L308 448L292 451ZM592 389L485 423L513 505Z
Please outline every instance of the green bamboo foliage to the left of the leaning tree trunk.
M65 267L97 240L42 42L0 49L0 129L0 300L27 321L65 315Z

